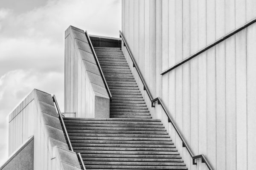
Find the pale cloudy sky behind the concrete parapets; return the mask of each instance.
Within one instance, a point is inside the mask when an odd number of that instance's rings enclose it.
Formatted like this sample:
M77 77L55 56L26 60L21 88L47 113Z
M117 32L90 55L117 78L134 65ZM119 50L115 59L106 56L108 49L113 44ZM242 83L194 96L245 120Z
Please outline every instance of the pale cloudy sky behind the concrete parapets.
M0 0L0 166L8 158L7 115L34 88L63 111L64 31L119 37L120 0Z

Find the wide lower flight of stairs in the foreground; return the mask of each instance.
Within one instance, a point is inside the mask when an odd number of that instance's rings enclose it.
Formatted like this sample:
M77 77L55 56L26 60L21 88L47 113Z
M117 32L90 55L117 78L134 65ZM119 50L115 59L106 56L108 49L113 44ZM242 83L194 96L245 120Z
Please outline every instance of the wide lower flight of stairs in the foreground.
M64 118L87 170L186 170L159 119Z

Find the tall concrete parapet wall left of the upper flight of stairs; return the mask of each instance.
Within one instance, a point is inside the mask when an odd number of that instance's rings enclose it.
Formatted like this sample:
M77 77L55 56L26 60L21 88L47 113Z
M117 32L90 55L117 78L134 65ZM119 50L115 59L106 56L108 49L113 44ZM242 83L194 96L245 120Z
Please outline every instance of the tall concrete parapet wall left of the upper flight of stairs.
M84 31L65 31L64 112L75 117L109 118L109 97ZM65 114L67 117L73 114Z

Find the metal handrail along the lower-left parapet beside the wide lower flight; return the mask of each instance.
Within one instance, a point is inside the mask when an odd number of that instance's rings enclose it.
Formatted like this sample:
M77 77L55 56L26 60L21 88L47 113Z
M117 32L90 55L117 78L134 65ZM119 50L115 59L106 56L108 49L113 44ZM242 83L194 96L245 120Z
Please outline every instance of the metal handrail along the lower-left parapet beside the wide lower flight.
M59 108L59 106L58 106L58 102L57 102L57 100L56 100L55 95L52 96L52 99L53 99L53 102L55 103L55 106L56 106L56 108L57 108L58 117L59 117L59 119L60 119L60 121L61 121L61 124L62 124L62 126L63 126L63 128L64 128L64 133L65 133L66 138L67 138L67 145L69 146L70 150L74 152L73 147L72 147L72 144L71 144L71 142L70 142L69 135L68 135L68 133L67 133L67 128L66 128L66 126L65 126L63 117L62 117L62 115L61 115L61 110L60 110L60 108ZM76 153L76 155L77 155L77 157L78 157L79 162L80 162L81 165L82 165L82 168L83 168L84 170L86 170L86 169L85 169L85 166L84 166L84 161L83 161L83 159L82 159L82 157L81 157L81 154L80 154L80 153Z

